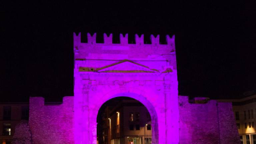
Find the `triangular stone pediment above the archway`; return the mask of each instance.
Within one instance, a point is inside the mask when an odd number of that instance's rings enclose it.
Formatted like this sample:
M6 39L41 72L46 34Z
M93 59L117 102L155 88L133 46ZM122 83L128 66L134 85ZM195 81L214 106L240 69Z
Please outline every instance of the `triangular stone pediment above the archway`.
M80 68L82 70L84 68ZM130 61L123 60L101 68L95 68L94 72L110 72L110 73L155 73L156 69L150 69L148 66Z

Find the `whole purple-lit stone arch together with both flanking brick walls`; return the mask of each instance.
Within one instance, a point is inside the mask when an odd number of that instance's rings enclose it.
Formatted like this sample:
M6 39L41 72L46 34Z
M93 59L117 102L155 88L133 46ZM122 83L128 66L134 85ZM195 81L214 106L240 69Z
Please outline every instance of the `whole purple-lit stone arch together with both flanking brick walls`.
M97 114L103 103L120 96L134 98L151 115L153 144L235 144L239 142L230 103L209 101L191 104L178 96L174 36L167 44L159 35L151 35L144 44L143 35L128 34L120 43L112 43L112 34L104 34L104 43L96 43L96 34L81 43L74 34L74 97L63 104L44 105L43 98L30 98L29 125L34 144L96 144ZM214 140L213 140L214 139Z

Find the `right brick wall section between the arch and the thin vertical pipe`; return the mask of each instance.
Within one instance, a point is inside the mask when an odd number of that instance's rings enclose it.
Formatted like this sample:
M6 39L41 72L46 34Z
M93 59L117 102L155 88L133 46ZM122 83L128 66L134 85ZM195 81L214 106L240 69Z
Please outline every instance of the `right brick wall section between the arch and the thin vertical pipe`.
M218 144L216 101L191 104L188 97L179 96L180 144Z

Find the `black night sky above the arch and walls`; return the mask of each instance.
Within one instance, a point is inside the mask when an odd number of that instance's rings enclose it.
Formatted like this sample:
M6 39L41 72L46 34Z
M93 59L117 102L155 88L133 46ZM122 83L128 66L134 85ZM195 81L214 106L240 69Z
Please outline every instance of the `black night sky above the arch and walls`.
M241 98L256 90L254 1L24 1L0 4L1 101L73 95L73 32L176 36L179 94ZM131 41L130 39L130 41Z

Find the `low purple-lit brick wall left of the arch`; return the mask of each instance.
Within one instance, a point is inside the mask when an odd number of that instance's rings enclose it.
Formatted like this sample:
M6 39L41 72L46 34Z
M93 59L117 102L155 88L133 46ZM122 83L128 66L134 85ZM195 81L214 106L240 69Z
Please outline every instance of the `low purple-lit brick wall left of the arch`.
M44 98L31 97L29 127L33 144L73 144L73 97L59 105L45 105Z

